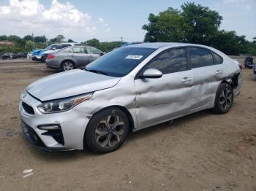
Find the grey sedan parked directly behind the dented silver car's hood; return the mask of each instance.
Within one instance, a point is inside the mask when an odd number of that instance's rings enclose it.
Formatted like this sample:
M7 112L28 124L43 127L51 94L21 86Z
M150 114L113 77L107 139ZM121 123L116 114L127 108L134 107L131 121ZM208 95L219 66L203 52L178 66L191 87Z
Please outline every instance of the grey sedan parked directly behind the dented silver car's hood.
M86 66L104 53L94 47L66 47L48 55L45 63L48 68L68 71Z

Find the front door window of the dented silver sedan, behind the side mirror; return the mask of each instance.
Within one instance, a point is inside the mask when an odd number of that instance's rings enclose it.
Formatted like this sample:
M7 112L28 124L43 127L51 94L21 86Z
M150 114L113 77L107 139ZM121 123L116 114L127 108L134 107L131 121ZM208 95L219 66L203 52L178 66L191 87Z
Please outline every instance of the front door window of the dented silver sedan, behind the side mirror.
M146 69L158 69L162 74L170 74L178 71L187 70L187 53L186 49L179 48L167 50L160 55L157 55L146 66Z

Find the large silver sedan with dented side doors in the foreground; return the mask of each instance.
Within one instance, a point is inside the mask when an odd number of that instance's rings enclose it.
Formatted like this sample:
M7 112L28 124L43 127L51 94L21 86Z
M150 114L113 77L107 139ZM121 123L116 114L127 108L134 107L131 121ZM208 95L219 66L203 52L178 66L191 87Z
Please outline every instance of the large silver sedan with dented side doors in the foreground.
M129 132L203 109L228 112L241 90L240 67L197 44L121 47L29 85L20 97L22 129L48 151L113 152Z

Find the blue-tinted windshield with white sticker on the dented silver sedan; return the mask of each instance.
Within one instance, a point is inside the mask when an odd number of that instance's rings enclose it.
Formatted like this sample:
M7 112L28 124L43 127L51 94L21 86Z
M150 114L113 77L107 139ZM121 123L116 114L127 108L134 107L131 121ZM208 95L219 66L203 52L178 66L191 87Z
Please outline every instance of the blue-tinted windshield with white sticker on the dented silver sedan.
M155 49L151 48L118 48L103 55L83 69L111 77L124 77L154 51Z

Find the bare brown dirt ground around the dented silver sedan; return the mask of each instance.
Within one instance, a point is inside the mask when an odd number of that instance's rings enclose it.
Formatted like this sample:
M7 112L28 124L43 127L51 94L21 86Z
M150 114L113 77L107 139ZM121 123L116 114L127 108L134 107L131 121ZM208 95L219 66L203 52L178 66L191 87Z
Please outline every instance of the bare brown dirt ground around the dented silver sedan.
M0 63L0 190L256 191L256 80L224 115L191 114L133 133L118 151L42 152L23 139L19 95L56 71L42 63ZM34 174L23 178L23 170Z

